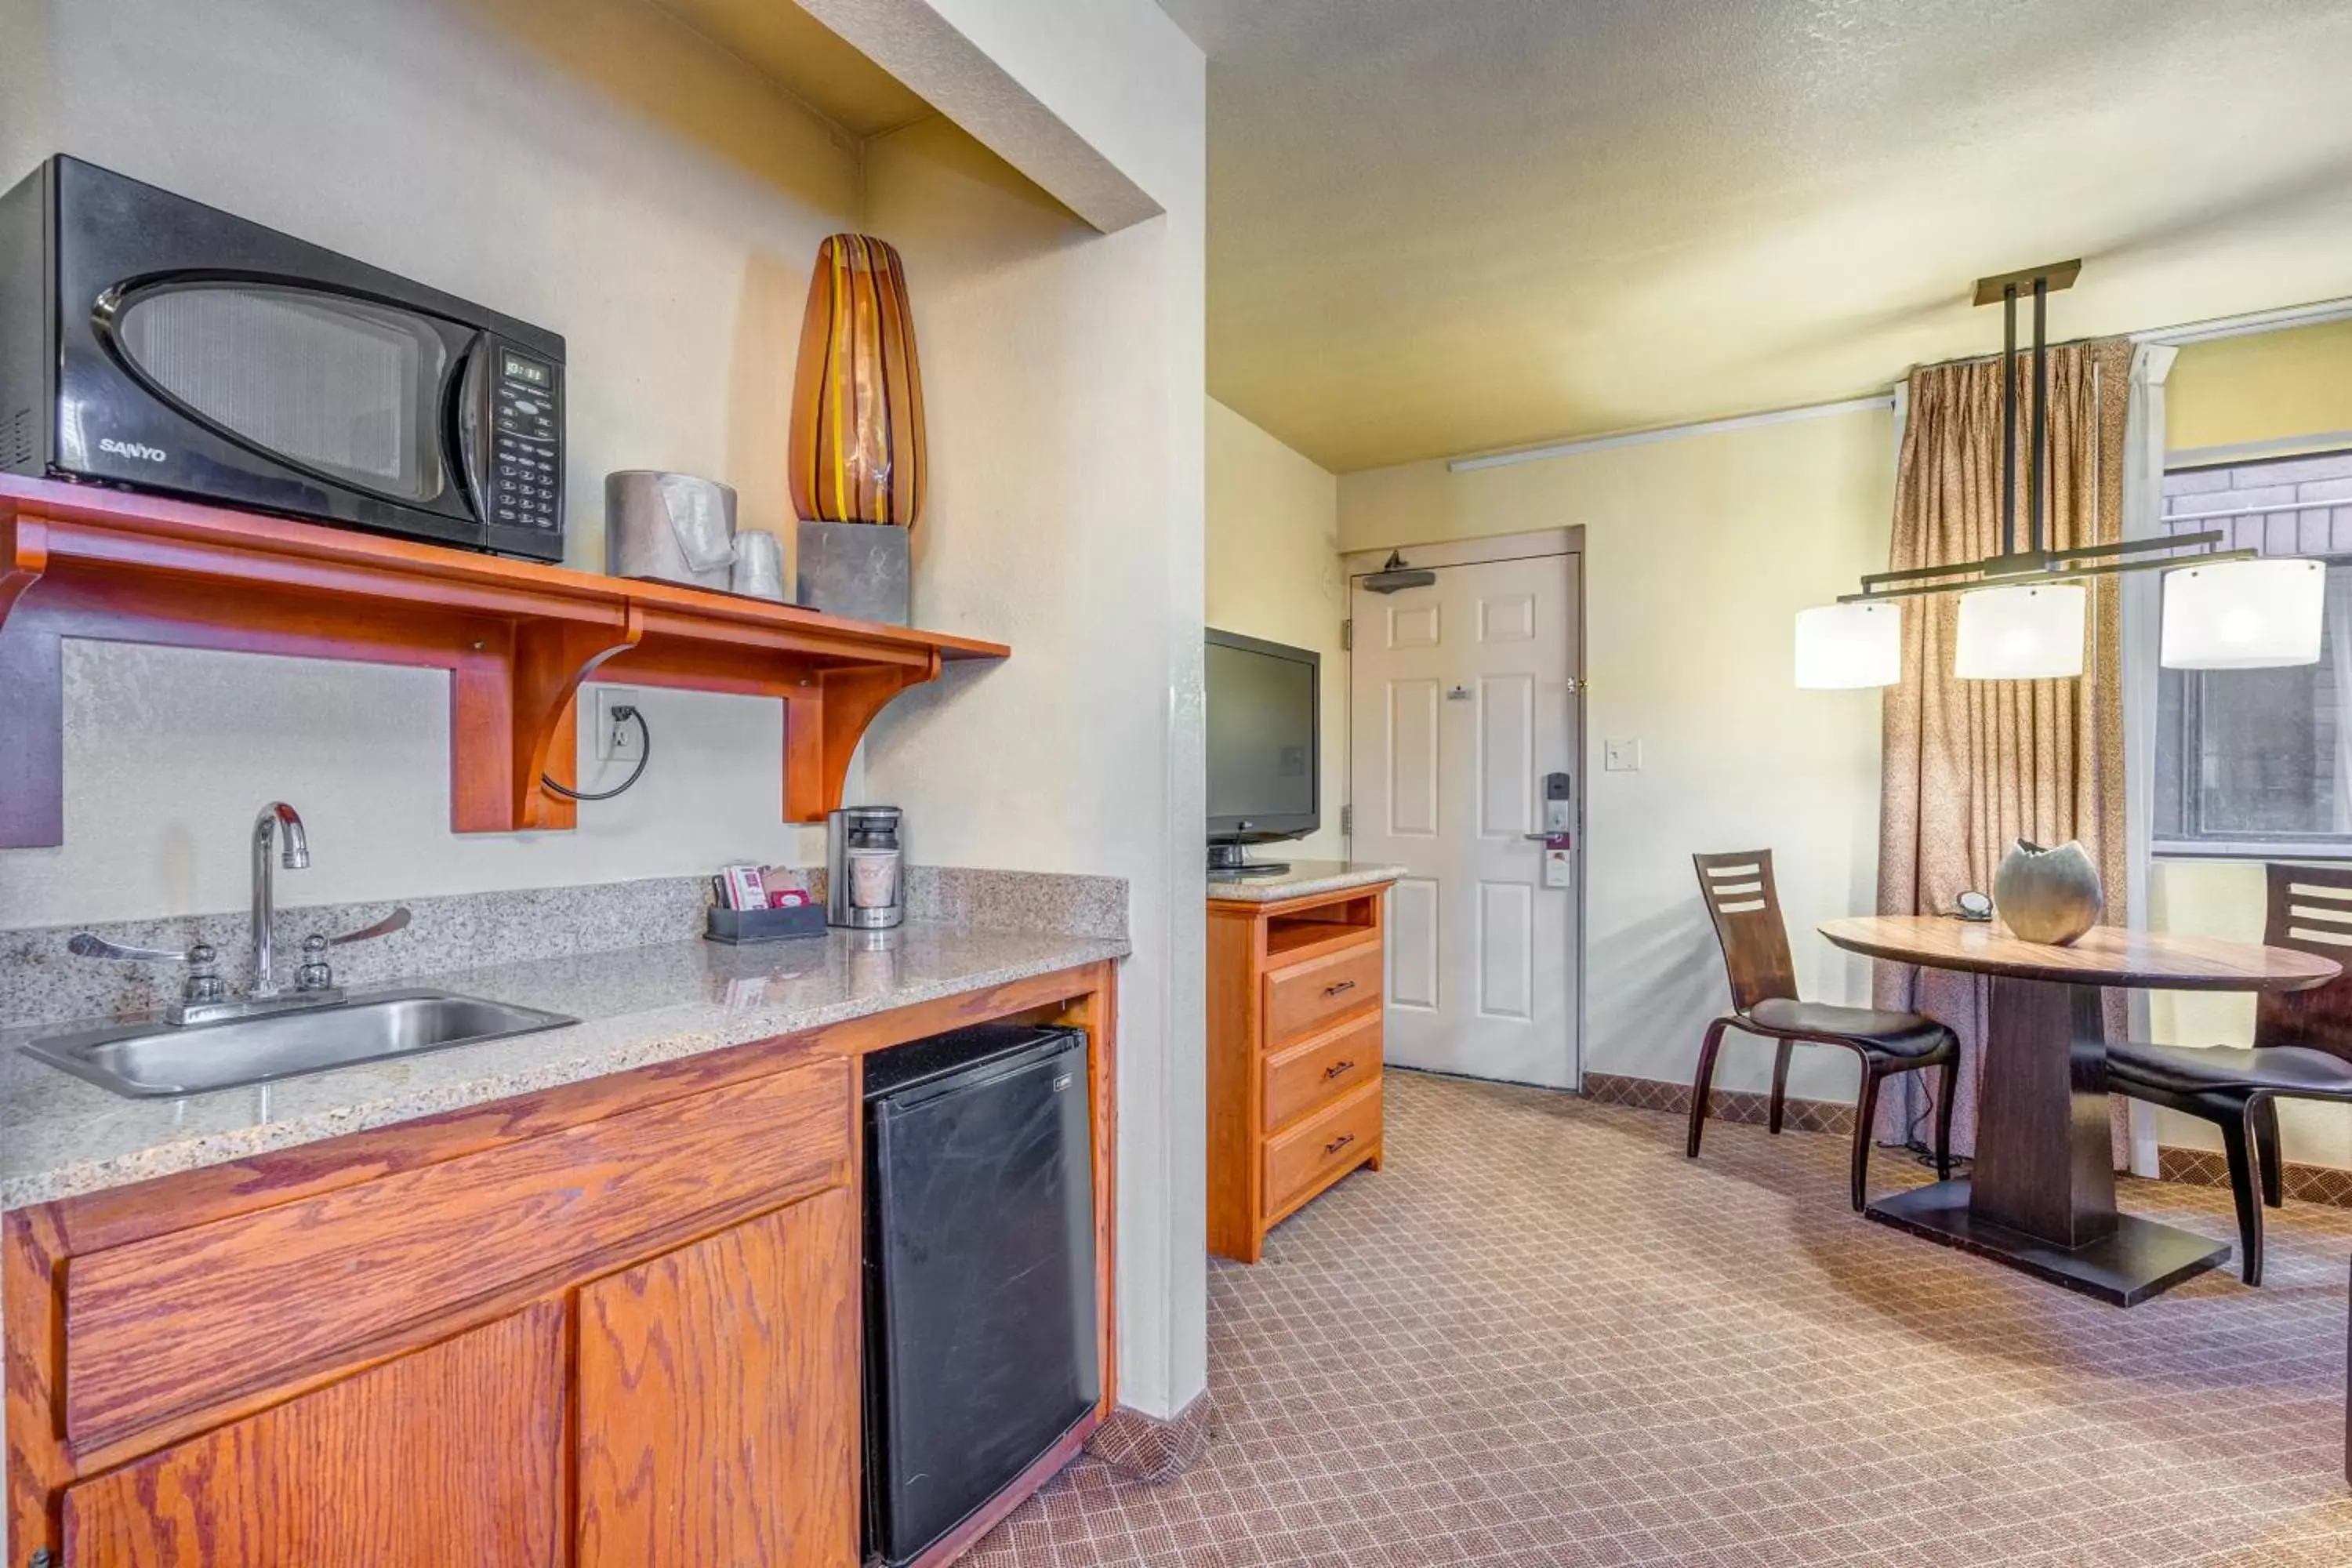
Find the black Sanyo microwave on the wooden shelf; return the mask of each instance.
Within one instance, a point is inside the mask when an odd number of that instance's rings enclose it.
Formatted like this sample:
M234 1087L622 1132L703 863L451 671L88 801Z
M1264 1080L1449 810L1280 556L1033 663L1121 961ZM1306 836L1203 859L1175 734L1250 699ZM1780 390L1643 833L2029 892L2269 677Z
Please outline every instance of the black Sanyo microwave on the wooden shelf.
M564 341L61 155L0 197L0 468L557 562Z

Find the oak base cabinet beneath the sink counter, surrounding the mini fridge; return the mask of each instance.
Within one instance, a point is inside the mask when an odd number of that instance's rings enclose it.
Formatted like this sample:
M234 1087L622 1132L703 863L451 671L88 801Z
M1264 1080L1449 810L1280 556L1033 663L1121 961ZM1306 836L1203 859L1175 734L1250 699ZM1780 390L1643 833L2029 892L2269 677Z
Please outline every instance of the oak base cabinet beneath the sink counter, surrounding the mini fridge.
M1115 1368L1105 961L0 1215L9 1566L851 1568L861 1058L990 1018L1089 1034Z

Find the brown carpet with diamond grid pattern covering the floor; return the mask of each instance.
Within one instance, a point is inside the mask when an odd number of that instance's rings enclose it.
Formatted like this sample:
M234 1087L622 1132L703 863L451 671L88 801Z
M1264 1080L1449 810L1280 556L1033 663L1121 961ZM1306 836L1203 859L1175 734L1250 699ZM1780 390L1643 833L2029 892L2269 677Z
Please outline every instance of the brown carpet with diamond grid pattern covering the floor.
M1851 1213L1837 1138L1686 1164L1656 1112L1416 1074L1388 1117L1385 1171L1211 1272L1207 1458L1082 1460L967 1563L2352 1563L2347 1211L2124 1312Z

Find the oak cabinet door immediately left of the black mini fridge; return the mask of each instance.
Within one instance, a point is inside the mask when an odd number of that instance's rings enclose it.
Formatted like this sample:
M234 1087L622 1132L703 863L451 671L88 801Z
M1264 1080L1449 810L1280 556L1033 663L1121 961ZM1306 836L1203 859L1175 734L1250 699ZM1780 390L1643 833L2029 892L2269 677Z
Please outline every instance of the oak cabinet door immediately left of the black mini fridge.
M579 1568L851 1568L847 1187L581 1288Z

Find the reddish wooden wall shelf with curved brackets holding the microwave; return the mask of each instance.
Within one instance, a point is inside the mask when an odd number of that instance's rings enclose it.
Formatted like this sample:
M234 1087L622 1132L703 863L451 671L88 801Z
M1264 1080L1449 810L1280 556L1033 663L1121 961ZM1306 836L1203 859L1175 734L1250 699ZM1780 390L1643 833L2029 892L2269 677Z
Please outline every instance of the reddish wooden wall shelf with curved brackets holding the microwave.
M586 679L783 701L783 820L882 708L997 642L0 475L0 849L61 844L66 637L449 670L449 825L560 830Z

